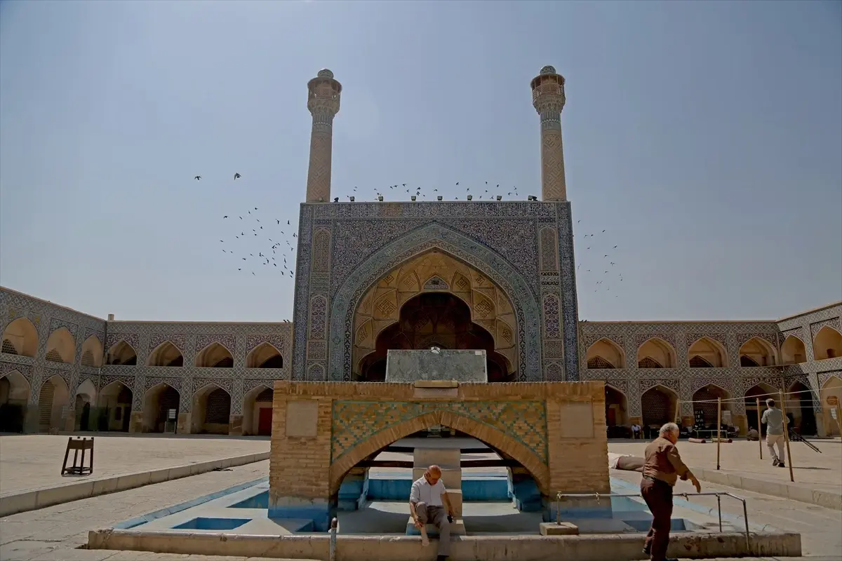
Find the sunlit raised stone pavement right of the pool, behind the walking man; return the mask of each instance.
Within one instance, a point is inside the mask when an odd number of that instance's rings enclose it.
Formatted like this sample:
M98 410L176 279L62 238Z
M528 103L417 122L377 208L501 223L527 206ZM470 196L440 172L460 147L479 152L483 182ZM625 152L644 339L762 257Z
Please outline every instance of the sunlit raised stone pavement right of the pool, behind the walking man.
M839 438L810 441L821 450L815 452L803 442L791 442L792 469L795 483L789 479L789 468L775 468L769 456L769 449L763 442L763 459L759 459L757 442L738 440L730 444L722 443L720 447L720 469L717 483L724 482L722 476L735 479L734 486L741 489L761 490L758 485L750 486L738 483L738 478L752 479L765 483L764 493L769 495L786 496L786 490L781 485L794 486L802 490L819 490L829 495L842 495L842 441ZM608 451L611 453L631 454L642 456L647 441L611 440ZM701 469L716 470L717 444L693 444L686 440L679 441L681 458L690 468L696 468L696 475L704 479ZM822 503L827 505L825 503Z

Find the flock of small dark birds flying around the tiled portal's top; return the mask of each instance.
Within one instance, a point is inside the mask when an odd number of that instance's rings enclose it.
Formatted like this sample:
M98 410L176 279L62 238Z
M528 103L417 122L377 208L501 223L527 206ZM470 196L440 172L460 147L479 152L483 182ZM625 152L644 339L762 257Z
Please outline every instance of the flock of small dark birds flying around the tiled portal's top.
M196 175L195 181L201 181L201 176ZM242 178L239 173L234 173L234 181ZM499 183L488 182L475 186L472 191L470 187L462 186L460 182L456 182L455 187L464 188L464 198L454 196L454 200L472 200L477 197L477 200L503 200L505 197L519 198L517 187L503 188L501 190ZM489 188L490 187L490 188ZM408 193L410 197L422 198L423 200L433 200L441 197L444 200L445 196L439 194L439 189L434 188L429 191L430 198L427 198L427 193L421 188L408 187L408 183L396 183L389 185L387 189L374 188L375 197L384 197L383 193L395 193L397 196L402 196L402 193ZM448 189L452 194L453 189ZM345 195L349 200L356 200L358 193L356 187L351 190L351 193ZM505 193L505 194L504 194ZM263 217L263 221L261 221ZM292 263L296 256L296 234L295 226L290 225L290 220L283 220L277 218L266 218L264 214L260 214L258 207L251 207L246 209L245 213L239 214L225 214L222 220L232 222L233 226L233 240L229 237L227 240L220 240L223 244L221 251L230 255L237 260L237 271L252 273L257 276L255 270L267 267L268 269L278 271L284 276L290 278L295 277ZM581 220L577 220L577 225ZM584 235L584 242L578 244L578 255L581 261L576 266L576 273L578 277L579 286L583 286L583 281L593 283L595 287L594 292L604 290L606 293L611 290L611 283L613 281L621 282L623 280L622 273L616 267L616 250L619 244L613 244L609 236L605 236L606 230L597 231L591 234ZM270 237L271 236L271 237ZM575 234L573 235L575 238ZM257 242L255 244L254 242ZM583 251L584 250L584 251ZM600 257L601 255L601 257ZM584 266L584 270L583 267ZM616 290L615 290L616 293ZM610 295L610 294L609 294ZM618 294L614 294L615 298L619 298Z

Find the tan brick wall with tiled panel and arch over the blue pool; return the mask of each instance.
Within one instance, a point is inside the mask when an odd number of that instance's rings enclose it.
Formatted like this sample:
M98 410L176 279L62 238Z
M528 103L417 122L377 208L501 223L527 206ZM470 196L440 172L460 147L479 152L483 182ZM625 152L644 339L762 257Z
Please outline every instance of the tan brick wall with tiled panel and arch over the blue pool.
M273 408L270 501L326 500L361 459L436 424L516 459L545 495L610 489L602 382L421 389L279 380Z

